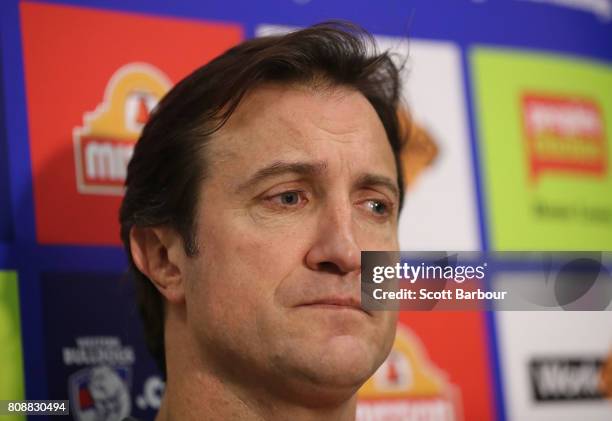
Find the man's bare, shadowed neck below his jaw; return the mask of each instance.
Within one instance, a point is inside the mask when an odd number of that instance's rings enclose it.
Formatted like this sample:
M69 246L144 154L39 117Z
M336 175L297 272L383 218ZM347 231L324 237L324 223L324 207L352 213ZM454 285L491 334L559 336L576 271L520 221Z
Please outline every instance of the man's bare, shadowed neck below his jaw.
M169 316L176 317L172 313ZM202 356L201 348L185 330L167 326L166 332L166 340L175 345L166 347L168 379L155 421L355 419L353 388L315 390L315 386L301 383L288 387L279 382L266 384L262 373L215 371L212 367L219 364L212 362L214 357ZM288 390L299 391L303 396L296 398L296 393L281 396Z

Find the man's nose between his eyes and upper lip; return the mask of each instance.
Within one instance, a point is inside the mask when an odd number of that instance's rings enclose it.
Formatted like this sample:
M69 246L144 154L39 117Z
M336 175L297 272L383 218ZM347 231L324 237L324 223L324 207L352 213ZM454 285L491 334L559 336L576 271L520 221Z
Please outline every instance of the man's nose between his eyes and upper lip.
M312 270L344 275L361 269L350 204L328 206L319 214L316 235L306 256Z

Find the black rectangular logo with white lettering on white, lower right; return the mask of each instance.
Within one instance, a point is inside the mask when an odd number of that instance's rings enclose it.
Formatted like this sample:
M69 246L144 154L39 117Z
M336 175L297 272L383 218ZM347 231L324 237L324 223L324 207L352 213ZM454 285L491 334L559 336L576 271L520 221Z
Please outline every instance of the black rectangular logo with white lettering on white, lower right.
M529 362L533 400L603 399L599 386L602 366L603 358L534 358Z

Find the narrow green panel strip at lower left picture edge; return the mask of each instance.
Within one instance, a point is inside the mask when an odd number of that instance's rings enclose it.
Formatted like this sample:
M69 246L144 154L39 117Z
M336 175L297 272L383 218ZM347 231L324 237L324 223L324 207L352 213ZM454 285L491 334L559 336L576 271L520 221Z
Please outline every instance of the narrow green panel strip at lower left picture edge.
M24 399L23 355L17 274L0 272L0 399ZM3 421L25 421L5 415Z

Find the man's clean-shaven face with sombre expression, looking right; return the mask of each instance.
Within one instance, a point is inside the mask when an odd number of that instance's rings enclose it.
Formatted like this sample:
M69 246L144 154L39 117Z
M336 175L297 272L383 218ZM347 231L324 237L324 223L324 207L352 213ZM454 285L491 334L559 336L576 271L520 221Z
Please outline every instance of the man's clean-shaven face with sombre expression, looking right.
M281 393L353 393L396 323L358 308L360 251L398 248L396 166L376 112L346 88L266 85L206 157L185 272L202 362Z

